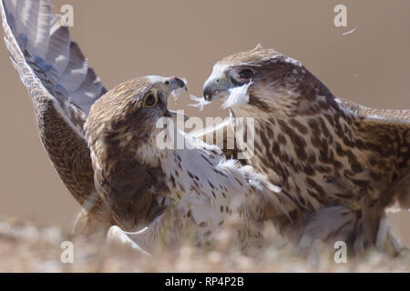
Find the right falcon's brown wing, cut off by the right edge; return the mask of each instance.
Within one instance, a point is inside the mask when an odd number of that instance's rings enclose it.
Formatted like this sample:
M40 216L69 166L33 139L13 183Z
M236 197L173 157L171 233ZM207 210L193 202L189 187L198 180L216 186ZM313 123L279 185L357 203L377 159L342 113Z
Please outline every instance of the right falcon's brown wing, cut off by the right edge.
M397 177L391 189L400 206L410 208L410 109L374 109L352 101L337 99L340 105L358 117L354 124L364 136L365 146L379 154L394 154Z

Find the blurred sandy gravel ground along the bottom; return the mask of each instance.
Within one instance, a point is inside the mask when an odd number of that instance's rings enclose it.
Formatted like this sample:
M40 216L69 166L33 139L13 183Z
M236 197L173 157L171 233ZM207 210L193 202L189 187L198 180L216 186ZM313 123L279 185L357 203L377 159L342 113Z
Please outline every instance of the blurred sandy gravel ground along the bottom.
M336 264L333 251L297 253L267 229L269 246L247 255L229 244L204 252L189 242L172 249L156 247L141 256L104 236L70 236L58 227L42 228L15 219L0 220L0 272L410 272L410 252L389 256L370 250ZM62 263L64 241L72 242L73 263ZM64 255L64 254L63 254Z

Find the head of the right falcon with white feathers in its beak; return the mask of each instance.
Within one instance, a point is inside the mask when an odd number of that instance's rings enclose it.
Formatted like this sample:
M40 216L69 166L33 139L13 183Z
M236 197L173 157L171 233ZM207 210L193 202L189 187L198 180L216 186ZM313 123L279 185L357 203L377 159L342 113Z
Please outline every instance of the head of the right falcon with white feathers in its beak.
M316 95L327 88L300 62L261 45L217 62L203 87L206 101L221 99L223 107L241 115L312 110Z

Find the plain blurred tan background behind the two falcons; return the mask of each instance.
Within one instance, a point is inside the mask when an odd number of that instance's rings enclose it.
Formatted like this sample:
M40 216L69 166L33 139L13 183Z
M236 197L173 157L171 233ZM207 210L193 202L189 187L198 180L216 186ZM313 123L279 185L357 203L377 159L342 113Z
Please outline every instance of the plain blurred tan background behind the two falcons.
M72 38L108 88L138 75L179 75L200 95L221 57L273 47L306 65L335 95L381 108L410 108L410 2L395 1L54 1L74 6ZM333 7L347 6L347 27ZM354 33L343 35L356 27ZM0 215L43 226L72 225L79 210L39 142L25 87L0 45ZM171 107L199 113L183 95ZM393 217L410 246L410 216Z

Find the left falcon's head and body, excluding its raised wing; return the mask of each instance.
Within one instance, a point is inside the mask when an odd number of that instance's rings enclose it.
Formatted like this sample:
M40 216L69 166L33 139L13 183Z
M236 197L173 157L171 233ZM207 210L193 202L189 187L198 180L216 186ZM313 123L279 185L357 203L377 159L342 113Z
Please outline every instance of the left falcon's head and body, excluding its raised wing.
M251 166L226 159L219 147L170 122L175 115L167 108L168 97L184 87L177 77L139 77L116 86L91 106L84 128L97 192L118 221L128 222L128 229L134 226L134 203L140 203L133 197L159 197L166 210L158 223L138 232L142 238L133 236L144 249L152 246L165 228L161 226L169 225L175 231L170 236L193 227L197 244L212 246L230 218L237 219L235 241L241 246L260 242L261 207L269 203L285 215L292 202ZM176 216L171 218L171 212Z

